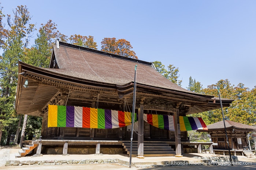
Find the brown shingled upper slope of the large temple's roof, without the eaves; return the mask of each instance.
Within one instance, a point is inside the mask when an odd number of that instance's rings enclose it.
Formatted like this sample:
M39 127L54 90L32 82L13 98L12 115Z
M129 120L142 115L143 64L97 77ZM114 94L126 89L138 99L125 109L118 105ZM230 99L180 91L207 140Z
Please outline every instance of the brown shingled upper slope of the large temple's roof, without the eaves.
M134 69L137 65L137 84L195 94L163 77L154 69L151 62L63 42L59 42L59 49L57 46L53 46L53 51L55 58L51 59L50 67L53 66L54 59L56 59L59 69L45 69L51 72L88 81L123 86L134 82Z

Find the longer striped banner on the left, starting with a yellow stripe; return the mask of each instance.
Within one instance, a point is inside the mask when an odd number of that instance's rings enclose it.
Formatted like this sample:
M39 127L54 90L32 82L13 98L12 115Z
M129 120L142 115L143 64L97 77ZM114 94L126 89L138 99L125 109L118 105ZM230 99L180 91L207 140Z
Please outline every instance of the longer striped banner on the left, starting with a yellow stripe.
M137 121L137 113L134 121ZM48 127L111 129L131 124L132 113L88 107L48 105Z

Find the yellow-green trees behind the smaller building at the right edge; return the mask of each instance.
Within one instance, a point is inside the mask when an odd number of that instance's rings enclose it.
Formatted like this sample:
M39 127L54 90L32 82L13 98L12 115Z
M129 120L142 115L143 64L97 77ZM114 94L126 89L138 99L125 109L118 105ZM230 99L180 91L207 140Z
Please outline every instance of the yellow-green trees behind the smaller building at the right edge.
M256 93L255 88L249 90L244 87L244 84L239 83L237 86L231 85L229 80L220 80L216 84L209 85L202 90L203 94L219 97L218 88L220 91L220 97L222 100L233 99L230 107L223 108L225 117L229 117L231 121L235 121L242 124L255 125L256 115ZM202 117L205 124L209 125L222 121L221 109L214 109L208 112L202 112L193 114L191 116Z

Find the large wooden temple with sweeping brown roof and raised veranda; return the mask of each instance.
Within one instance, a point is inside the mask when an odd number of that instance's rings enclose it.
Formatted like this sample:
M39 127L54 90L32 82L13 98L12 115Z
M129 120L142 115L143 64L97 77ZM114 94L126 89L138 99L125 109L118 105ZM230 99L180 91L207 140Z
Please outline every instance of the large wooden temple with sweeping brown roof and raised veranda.
M122 57L56 41L49 68L19 62L16 113L41 116L40 142L45 148L64 144L70 147L122 147L131 140L131 127L84 128L48 127L48 105L101 108L132 112L134 70L136 71L134 152L144 156L146 142L169 142L177 156L182 142L189 143L187 131L181 131L179 116L220 108L219 98L191 92L158 73L151 62ZM24 86L27 80L27 86ZM233 100L222 99L223 107ZM171 115L175 131L163 130L143 120L143 114ZM153 120L154 121L154 120ZM66 146L65 146L66 144ZM41 148L40 148L41 149ZM98 148L99 149L99 148ZM152 149L152 147L151 147ZM164 151L159 151L164 153Z

